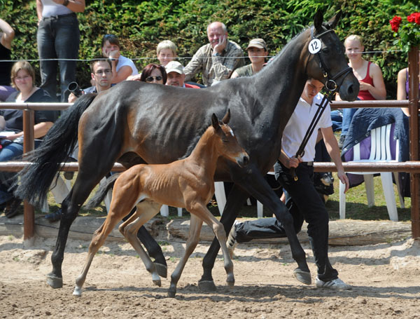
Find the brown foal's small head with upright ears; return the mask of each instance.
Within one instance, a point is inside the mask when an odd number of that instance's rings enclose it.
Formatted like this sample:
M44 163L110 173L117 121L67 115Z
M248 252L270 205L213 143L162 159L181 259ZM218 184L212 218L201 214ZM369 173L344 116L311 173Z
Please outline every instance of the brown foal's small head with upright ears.
M230 109L223 116L222 121L218 120L216 114L211 116L211 125L216 133L216 149L224 158L237 163L240 167L244 167L249 163L249 156L239 145L232 128L228 125L230 121Z

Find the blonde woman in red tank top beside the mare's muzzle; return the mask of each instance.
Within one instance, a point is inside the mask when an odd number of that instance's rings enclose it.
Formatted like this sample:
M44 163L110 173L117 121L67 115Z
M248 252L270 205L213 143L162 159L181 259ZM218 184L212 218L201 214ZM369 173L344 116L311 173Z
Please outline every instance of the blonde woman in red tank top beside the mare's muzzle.
M347 36L344 40L344 47L349 58L349 66L353 68L353 74L360 83L358 100L385 100L384 77L377 64L363 59L362 53L365 47L362 38L356 34ZM341 101L338 94L335 96L335 100ZM351 118L356 111L357 109L343 109L342 133L339 138L340 147L344 143Z

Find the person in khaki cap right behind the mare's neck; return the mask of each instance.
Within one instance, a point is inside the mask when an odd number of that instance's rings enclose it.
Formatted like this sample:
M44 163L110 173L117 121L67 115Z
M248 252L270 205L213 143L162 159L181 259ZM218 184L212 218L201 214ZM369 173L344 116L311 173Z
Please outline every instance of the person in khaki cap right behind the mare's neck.
M230 76L230 79L239 78L241 76L251 76L261 71L265 63L265 57L268 55L265 41L262 39L252 39L249 41L246 50L248 51L248 57L249 60L251 60L251 64L236 69L232 73L232 76Z

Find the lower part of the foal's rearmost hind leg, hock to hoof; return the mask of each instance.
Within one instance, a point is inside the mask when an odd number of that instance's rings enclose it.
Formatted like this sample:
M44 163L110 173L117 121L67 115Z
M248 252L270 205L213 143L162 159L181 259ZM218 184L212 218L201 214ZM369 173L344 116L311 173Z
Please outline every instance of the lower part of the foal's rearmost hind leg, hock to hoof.
M90 269L90 264L92 264L94 254L96 254L99 248L104 245L106 237L109 235L109 233L111 233L118 222L118 218L114 218L113 214L109 214L106 216L104 224L102 224L102 226L100 226L99 229L93 233L85 266L83 266L82 272L76 278L76 286L74 287L73 295L78 297L82 295L83 283L85 283L87 271Z

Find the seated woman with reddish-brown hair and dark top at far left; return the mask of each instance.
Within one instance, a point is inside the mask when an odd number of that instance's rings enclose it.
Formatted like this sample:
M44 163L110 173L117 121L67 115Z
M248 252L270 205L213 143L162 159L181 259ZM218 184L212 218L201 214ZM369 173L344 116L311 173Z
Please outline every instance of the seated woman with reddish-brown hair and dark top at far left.
M35 72L27 61L16 62L12 70L11 82L17 92L12 93L6 102L53 102L50 95L35 86ZM51 128L57 118L57 111L35 111L35 146ZM0 110L0 162L20 158L23 154L23 111L21 109ZM0 209L10 218L18 213L20 200L13 197L9 187L13 184L13 172L0 172Z

